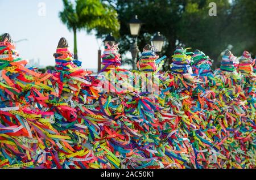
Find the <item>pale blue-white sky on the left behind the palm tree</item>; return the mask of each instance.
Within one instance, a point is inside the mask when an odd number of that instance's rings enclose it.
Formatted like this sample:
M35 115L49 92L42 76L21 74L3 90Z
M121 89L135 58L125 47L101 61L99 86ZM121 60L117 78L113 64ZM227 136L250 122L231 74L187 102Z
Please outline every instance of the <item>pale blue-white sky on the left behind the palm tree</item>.
M63 9L61 0L0 0L0 35L10 33L23 59L40 58L40 65L54 66L57 44L61 37L67 38L73 52L73 33L61 23L59 12ZM45 10L45 11L44 11ZM81 31L77 35L79 60L83 68L97 68L99 45L103 42L93 34Z

